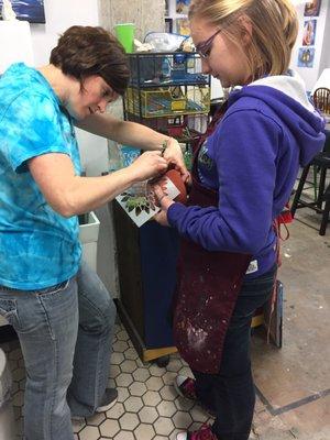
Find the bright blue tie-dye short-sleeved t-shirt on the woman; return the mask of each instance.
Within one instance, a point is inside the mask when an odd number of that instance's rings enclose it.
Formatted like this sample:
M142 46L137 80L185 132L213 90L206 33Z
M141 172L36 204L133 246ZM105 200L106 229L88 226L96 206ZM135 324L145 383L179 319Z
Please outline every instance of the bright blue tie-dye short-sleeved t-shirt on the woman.
M37 70L13 64L0 78L0 285L7 287L50 287L79 268L77 217L51 208L26 164L47 153L67 154L80 174L72 118Z

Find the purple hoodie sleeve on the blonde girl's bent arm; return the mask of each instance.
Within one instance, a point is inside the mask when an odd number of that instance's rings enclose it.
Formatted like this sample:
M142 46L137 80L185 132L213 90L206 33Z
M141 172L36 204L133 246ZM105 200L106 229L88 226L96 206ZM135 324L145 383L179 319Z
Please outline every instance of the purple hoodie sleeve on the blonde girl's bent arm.
M256 254L272 228L280 135L280 127L257 110L227 116L209 147L219 176L218 208L174 204L169 224L208 251Z

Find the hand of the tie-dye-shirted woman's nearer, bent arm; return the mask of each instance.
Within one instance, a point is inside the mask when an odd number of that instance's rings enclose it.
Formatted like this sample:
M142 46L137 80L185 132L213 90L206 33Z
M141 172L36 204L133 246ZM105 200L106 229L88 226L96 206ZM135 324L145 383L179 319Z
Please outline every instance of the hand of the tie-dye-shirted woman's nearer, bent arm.
M135 182L146 180L166 172L167 161L158 151L148 151L139 156L128 168Z

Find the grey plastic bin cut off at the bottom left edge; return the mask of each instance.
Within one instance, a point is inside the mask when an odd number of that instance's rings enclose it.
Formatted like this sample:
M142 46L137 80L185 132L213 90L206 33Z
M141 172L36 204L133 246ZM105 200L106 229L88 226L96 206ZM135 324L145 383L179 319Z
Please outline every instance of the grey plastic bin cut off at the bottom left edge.
M11 374L0 349L0 440L14 440L14 416L11 402Z

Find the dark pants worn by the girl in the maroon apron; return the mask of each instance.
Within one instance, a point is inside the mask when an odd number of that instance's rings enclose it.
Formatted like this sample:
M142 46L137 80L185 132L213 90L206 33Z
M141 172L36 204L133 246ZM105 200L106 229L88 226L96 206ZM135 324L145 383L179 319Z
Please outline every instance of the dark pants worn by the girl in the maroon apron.
M250 336L254 311L270 299L276 267L244 282L224 340L218 374L194 371L198 398L216 413L212 431L219 440L248 440L255 391L251 372Z

